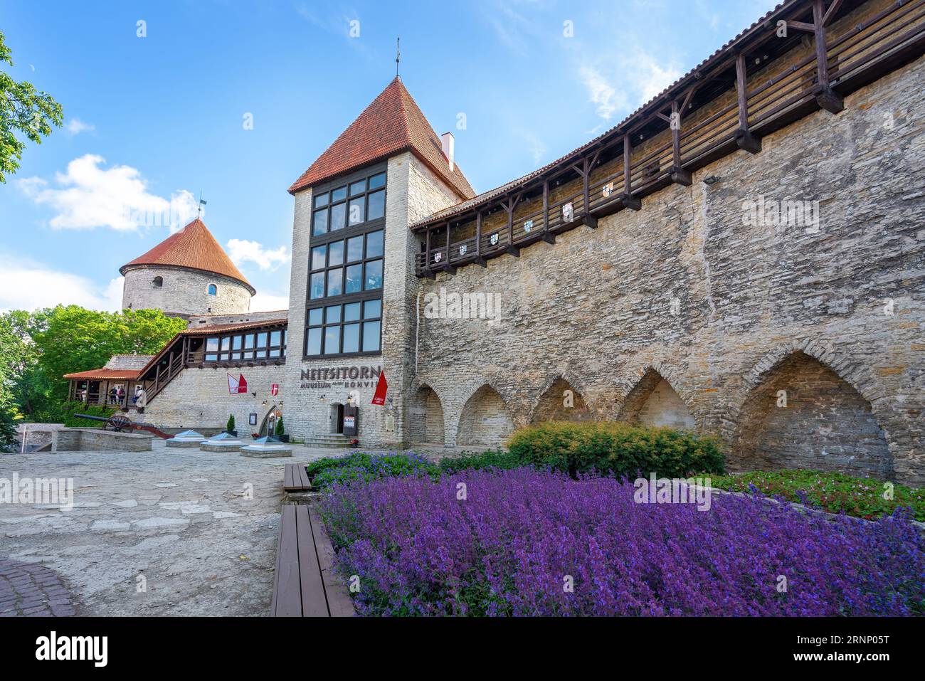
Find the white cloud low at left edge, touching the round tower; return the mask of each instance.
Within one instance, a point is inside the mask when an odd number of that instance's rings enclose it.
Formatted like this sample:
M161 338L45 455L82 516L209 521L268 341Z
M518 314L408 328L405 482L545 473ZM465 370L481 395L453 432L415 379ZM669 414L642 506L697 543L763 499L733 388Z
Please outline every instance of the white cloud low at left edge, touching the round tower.
M8 256L0 257L0 310L35 310L61 303L93 310L115 311L122 307L124 279L106 286L81 277Z

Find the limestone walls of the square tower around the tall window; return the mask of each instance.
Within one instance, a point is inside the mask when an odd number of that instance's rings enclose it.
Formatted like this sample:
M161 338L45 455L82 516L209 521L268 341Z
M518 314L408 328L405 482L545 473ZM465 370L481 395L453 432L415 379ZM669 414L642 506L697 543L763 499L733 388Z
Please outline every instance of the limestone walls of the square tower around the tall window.
M311 190L295 195L290 275L290 394L286 423L293 437L330 431L330 405L359 405L359 439L364 446L399 447L409 438L405 423L412 400L415 309L419 285L413 269L417 240L409 225L458 197L409 153L388 159L385 266L383 271L382 353L373 356L300 361L304 349L305 307L310 250ZM388 380L388 402L370 404L378 372Z

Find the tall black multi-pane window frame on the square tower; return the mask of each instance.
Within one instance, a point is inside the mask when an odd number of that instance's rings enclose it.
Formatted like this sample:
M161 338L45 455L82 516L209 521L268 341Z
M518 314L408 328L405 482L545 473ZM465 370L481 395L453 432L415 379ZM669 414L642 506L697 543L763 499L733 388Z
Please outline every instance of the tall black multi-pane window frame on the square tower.
M370 180L382 173L387 173L385 180L381 187L376 187L370 189ZM354 184L360 180L365 182L365 191L358 192L351 195L350 188L351 184ZM332 201L332 192L338 191L341 188L344 189L344 198L343 200ZM372 220L364 220L356 225L350 225L350 202L355 200L358 197L363 197L364 199L364 217L368 214L369 211L369 195L375 192L383 192L382 202L383 202L383 214L382 217L376 217ZM319 196L327 195L327 198L324 199L323 205L317 205L316 201ZM327 360L337 357L359 357L359 356L370 356L377 355L382 353L382 291L385 287L385 265L386 265L386 254L385 254L385 240L386 240L386 205L388 202L388 163L378 163L374 166L364 167L362 170L358 170L350 175L345 175L340 177L337 180L331 180L325 182L324 184L318 185L317 187L312 188L312 206L311 206L311 218L308 225L308 262L305 264L308 270L308 277L305 282L305 324L302 328L302 359L303 360ZM330 231L330 219L331 213L330 209L332 205L335 204L345 204L347 207L347 215L345 216L345 226L343 229L337 229L335 231ZM327 209L327 231L323 234L314 234L314 215L319 210ZM382 253L379 255L369 256L369 235L377 231L382 232ZM353 259L349 260L349 246L348 242L355 237L363 238L363 253L359 260ZM343 243L343 259L340 263L335 263L331 265L330 263L330 246L332 243L337 243L341 241ZM319 246L326 246L325 249L325 262L322 267L314 267L313 263L313 253L314 249ZM365 284L367 279L367 266L370 263L375 263L376 261L382 264L382 275L381 283L378 289L365 290ZM361 290L354 291L351 293L345 292L347 289L347 268L350 266L360 265L361 266ZM328 274L332 269L340 270L340 293L337 295L328 295L328 280L330 275ZM322 275L324 278L324 295L320 298L312 298L312 277L313 275ZM349 303L365 303L366 301L378 301L379 302L379 316L375 318L364 319L364 304L361 304L360 308L360 319L357 321L345 322L343 321L343 305ZM327 313L325 308L331 305L340 305L340 321L334 323L327 323ZM309 319L311 317L311 311L314 309L322 310L322 324L321 325L312 325L309 326ZM379 323L379 339L378 339L378 349L375 351L369 350L364 351L363 348L363 329L364 322L377 321ZM359 347L361 348L357 352L344 353L342 352L343 342L344 342L344 333L343 327L350 324L360 324L360 336L359 336ZM339 326L339 352L338 353L324 353L325 350L325 336L326 329L328 327ZM309 337L309 328L321 328L321 351L320 354L309 354L308 353L308 337Z

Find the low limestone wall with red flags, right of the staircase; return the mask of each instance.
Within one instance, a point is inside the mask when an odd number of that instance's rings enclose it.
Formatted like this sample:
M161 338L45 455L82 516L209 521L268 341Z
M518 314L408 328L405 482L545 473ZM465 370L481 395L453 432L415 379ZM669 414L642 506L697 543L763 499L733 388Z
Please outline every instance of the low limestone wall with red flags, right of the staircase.
M289 431L287 413L288 387L285 385L286 365L244 366L239 369L188 367L148 402L144 413L133 419L147 421L168 432L175 429L225 429L228 415L233 414L240 435L256 432L265 416L276 405L283 413L283 423ZM247 394L228 394L228 373L247 380ZM276 396L270 394L274 383L279 385ZM256 393L254 395L253 393ZM248 416L257 415L257 425L248 423ZM205 434L205 433L203 433Z

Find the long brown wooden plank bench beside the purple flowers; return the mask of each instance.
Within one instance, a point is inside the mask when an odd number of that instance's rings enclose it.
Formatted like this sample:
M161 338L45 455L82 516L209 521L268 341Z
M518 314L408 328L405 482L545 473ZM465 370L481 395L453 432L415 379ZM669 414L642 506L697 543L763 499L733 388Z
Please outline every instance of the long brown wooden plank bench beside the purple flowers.
M283 506L279 518L274 617L350 617L353 603L334 570L334 548L317 511Z

